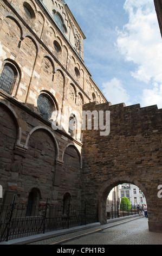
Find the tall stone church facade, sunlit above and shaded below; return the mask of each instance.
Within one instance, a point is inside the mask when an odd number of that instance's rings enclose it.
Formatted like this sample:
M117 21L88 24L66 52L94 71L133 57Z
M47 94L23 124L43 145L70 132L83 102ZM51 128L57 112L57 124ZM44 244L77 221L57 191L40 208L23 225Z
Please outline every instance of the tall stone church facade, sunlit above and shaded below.
M80 204L82 105L106 102L64 1L0 3L1 203Z

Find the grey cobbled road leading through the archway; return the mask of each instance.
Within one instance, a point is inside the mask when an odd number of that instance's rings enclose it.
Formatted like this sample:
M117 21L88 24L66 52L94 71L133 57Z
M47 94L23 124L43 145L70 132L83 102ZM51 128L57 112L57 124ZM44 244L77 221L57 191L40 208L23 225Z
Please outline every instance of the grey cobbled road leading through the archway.
M73 234L60 245L162 245L162 234L148 231L148 219L145 217L125 220L100 226L99 231L88 231L81 235ZM68 240L69 239L69 240ZM60 240L61 241L61 240ZM56 241L50 244L57 244Z

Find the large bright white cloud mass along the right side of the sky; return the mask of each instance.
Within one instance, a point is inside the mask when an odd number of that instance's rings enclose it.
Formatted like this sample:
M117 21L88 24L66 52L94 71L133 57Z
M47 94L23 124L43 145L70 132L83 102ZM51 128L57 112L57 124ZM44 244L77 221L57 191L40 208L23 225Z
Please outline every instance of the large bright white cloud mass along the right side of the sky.
M142 92L142 105L161 107L162 40L154 3L152 0L126 0L124 9L129 22L122 31L116 29L116 46L127 62L136 64L137 68L131 71L132 77L148 84Z

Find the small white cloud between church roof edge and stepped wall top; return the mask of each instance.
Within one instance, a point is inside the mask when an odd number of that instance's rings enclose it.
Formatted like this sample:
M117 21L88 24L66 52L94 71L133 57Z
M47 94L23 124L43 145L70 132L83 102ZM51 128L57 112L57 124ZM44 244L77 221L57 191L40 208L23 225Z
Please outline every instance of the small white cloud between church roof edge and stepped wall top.
M126 106L131 105L129 95L118 78L113 78L110 82L102 84L102 92L107 99L114 105L124 102Z

